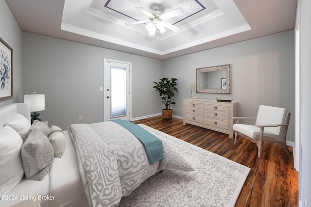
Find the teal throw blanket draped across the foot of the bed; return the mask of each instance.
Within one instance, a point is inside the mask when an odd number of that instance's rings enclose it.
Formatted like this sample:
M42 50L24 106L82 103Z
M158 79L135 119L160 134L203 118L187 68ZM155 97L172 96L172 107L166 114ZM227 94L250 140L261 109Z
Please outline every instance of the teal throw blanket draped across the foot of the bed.
M163 146L162 141L149 131L139 127L138 125L121 119L110 120L126 128L144 145L147 158L150 164L163 159Z

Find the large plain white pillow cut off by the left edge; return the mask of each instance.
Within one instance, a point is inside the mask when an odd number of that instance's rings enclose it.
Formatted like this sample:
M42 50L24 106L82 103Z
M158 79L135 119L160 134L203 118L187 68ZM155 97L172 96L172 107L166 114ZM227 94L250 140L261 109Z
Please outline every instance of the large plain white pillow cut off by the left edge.
M23 141L10 126L0 132L0 195L11 191L24 176L20 158Z

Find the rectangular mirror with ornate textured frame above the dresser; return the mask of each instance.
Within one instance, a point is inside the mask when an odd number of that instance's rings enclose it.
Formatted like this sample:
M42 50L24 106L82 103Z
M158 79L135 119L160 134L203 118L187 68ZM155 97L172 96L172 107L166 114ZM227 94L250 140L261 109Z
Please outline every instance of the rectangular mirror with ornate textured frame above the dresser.
M231 64L196 69L196 92L231 94Z

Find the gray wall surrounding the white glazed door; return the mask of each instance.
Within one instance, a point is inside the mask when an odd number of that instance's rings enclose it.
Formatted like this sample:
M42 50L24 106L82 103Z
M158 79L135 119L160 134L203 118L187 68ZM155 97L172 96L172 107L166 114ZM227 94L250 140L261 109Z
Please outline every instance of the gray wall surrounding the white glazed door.
M162 61L23 32L24 93L45 94L41 119L64 130L104 121L104 92L99 91L104 58L132 63L133 118L161 111L152 82L162 77Z

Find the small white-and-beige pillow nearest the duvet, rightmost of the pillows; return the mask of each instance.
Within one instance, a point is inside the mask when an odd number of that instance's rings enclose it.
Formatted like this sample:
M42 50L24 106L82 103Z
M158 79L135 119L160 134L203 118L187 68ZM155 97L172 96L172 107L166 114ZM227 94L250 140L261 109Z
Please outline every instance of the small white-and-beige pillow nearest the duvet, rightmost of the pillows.
M66 136L60 127L52 125L49 133L49 140L54 149L54 157L61 158L65 152Z

